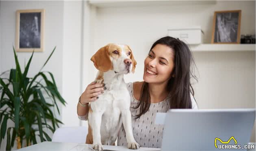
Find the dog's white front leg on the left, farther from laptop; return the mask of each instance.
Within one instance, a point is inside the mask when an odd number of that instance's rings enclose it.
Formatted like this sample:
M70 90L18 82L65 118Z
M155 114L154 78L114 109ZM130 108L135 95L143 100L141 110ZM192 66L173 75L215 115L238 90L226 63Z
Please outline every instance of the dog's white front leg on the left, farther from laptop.
M101 136L100 136L100 125L101 125L101 118L102 113L101 112L95 112L91 114L92 122L91 122L91 128L92 128L92 134L93 134L93 149L96 151L102 151L102 143L101 143Z

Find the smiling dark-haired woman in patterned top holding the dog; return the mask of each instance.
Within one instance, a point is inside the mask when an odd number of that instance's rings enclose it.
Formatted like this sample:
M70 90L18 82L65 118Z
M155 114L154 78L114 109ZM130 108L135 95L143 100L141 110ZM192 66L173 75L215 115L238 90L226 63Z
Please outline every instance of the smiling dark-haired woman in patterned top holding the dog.
M144 61L144 81L127 83L133 135L141 147L161 148L163 125L154 124L157 112L167 112L170 108L197 108L190 82L191 78L197 79L192 75L191 64L194 64L193 56L184 42L163 37L152 45ZM88 85L77 105L79 119L87 120L86 104L95 101L102 91L102 84ZM93 93L96 96L90 98ZM117 139L117 145L126 146L123 125Z

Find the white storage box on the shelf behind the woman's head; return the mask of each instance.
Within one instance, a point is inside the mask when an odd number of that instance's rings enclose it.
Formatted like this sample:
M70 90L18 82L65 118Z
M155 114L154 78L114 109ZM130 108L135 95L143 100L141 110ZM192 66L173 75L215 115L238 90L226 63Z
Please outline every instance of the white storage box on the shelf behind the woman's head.
M201 44L202 34L201 27L168 29L168 36L179 38L189 45Z

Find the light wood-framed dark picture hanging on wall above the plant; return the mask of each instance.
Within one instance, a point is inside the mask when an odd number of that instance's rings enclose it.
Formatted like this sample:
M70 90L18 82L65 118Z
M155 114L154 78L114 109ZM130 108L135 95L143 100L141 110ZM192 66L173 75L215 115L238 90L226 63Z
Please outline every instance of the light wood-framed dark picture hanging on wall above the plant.
M43 51L44 9L16 12L16 51Z

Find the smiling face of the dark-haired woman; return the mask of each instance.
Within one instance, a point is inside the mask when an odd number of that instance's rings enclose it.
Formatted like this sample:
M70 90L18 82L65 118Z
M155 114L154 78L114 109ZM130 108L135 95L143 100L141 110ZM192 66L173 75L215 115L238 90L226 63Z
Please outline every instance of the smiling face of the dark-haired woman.
M143 80L147 83L167 82L173 68L174 51L166 45L157 44L144 61Z

